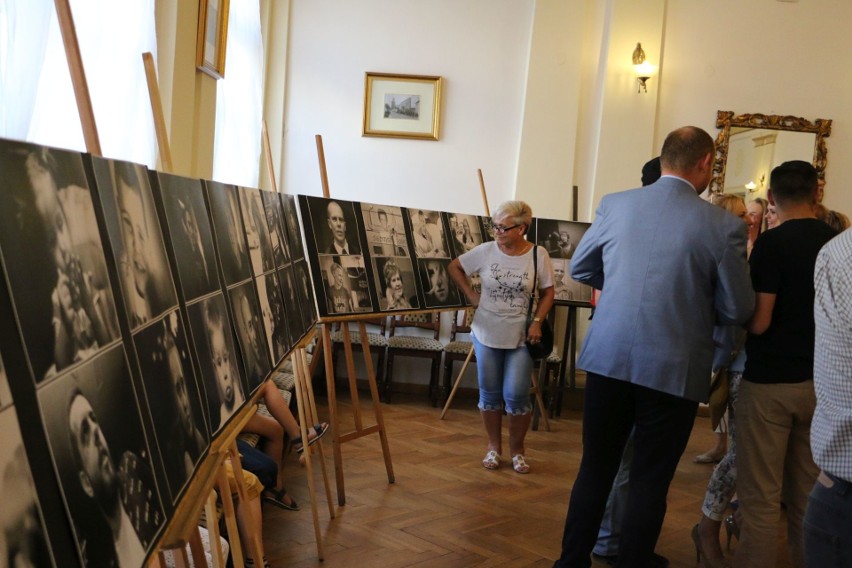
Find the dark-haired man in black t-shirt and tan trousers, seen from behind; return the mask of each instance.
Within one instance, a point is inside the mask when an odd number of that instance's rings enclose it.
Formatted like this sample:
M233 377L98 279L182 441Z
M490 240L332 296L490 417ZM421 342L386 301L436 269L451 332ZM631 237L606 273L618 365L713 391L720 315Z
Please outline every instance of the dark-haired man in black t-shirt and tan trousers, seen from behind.
M742 540L735 568L775 566L781 500L794 566L804 566L802 517L818 468L810 449L814 264L835 231L814 216L817 173L808 162L772 170L769 202L781 225L752 249L755 312L737 403L737 493Z

